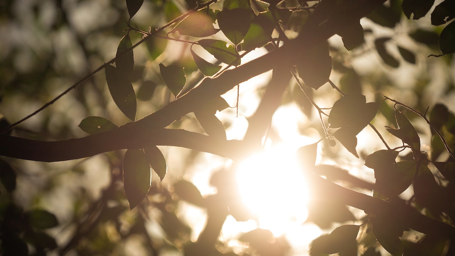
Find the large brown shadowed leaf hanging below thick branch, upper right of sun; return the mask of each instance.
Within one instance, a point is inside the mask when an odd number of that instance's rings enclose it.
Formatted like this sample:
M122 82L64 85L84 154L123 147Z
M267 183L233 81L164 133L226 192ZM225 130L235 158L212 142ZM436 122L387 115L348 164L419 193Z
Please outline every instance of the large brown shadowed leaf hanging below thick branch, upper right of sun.
M327 42L318 44L313 49L305 49L302 60L305 62L297 64L297 71L305 85L317 90L329 81L332 57Z

